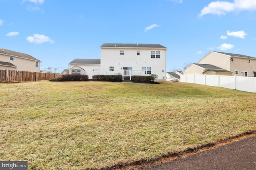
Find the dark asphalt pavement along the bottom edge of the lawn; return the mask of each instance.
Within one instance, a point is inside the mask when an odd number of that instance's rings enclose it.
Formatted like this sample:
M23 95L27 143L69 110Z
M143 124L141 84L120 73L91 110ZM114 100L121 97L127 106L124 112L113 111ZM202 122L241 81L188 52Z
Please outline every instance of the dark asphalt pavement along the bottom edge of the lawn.
M256 135L186 158L134 170L256 170Z

